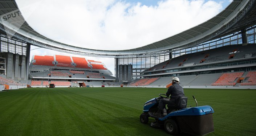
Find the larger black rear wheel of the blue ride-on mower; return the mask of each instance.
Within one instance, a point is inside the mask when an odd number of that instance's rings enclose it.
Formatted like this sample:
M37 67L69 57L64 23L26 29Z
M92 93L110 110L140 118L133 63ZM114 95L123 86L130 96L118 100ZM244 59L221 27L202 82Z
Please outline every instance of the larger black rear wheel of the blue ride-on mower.
M178 125L173 119L164 121L164 129L171 135L177 135L179 133Z

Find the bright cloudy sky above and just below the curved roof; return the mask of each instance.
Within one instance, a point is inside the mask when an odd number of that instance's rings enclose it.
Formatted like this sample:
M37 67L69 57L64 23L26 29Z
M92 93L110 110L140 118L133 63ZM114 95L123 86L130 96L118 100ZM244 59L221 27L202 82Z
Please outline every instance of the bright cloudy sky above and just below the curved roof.
M74 46L133 49L199 25L231 0L16 0L38 33ZM29 12L23 11L30 7ZM31 8L32 7L32 8ZM31 47L32 55L71 55L103 62L114 74L114 58L86 57Z

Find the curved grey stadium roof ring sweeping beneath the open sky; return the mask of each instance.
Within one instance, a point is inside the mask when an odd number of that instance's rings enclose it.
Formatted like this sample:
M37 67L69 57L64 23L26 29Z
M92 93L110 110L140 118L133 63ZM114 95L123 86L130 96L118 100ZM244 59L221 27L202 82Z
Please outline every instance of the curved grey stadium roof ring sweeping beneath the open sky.
M12 13L17 15L10 17ZM168 53L174 49L188 48L239 32L241 29L256 24L255 0L233 0L215 17L174 36L134 49L96 50L64 44L45 37L29 26L24 17L18 13L20 9L15 0L0 1L0 29L7 35L47 49L100 57L138 57Z

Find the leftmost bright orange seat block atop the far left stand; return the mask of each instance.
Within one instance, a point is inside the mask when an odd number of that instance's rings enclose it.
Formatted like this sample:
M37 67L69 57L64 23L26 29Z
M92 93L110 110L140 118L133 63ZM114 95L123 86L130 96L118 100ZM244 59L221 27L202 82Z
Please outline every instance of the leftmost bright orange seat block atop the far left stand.
M38 56L34 55L34 60L36 62L33 62L33 65L45 65L45 66L54 66L54 58L53 56Z

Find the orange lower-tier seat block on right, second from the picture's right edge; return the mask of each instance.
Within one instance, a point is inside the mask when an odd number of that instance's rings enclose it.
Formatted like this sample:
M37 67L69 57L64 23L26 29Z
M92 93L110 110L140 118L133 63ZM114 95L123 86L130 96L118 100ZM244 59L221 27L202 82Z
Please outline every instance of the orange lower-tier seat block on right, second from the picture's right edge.
M235 86L235 79L243 74L244 72L223 73L216 82L212 83L212 86Z

